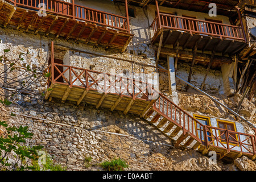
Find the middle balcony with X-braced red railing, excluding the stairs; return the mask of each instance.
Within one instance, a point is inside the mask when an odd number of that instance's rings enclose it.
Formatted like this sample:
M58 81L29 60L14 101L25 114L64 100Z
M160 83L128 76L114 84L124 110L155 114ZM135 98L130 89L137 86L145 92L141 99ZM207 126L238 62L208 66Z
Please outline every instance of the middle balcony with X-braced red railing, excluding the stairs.
M61 51L63 50L63 51ZM49 65L51 76L47 81L46 99L59 98L61 102L82 102L99 107L122 111L124 114L141 115L158 96L152 84L123 75L110 75L59 64L67 49L51 44Z

